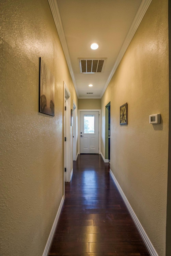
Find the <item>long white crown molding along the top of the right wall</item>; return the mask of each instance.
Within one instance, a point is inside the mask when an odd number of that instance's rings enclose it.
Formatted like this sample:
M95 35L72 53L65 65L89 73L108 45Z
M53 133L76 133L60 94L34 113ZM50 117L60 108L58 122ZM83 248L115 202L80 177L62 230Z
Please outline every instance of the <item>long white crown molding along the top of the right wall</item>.
M137 29L139 27L139 24L141 23L141 21L142 21L144 15L145 15L145 13L146 13L150 3L151 3L151 1L152 0L142 0L140 6L138 8L137 13L135 14L134 20L133 20L133 22L132 22L132 24L130 26L130 29L129 29L129 31L128 31L126 37L125 37L125 40L124 40L124 42L122 44L122 47L121 47L121 49L119 51L119 54L118 54L118 56L116 58L116 61L115 61L114 65L113 65L113 67L112 67L110 75L109 75L109 77L108 77L108 79L107 79L107 81L106 81L106 83L105 83L105 85L103 87L103 90L102 90L102 93L100 95L100 98L102 98L102 96L103 96L103 94L104 94L104 92L105 92L105 90L106 90L110 80L112 79L112 76L114 75L114 73L115 73L115 71L116 71L120 61L122 60L122 57L125 54L126 49L128 48L128 46L129 46L129 44L130 44L130 42L131 42L135 32L137 31Z

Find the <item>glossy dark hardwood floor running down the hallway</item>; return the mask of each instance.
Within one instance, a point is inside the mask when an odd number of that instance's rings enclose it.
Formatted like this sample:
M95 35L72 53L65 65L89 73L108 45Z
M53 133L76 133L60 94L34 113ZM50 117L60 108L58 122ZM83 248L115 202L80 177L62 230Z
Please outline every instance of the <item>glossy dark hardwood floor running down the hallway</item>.
M48 255L150 256L100 155L79 155Z

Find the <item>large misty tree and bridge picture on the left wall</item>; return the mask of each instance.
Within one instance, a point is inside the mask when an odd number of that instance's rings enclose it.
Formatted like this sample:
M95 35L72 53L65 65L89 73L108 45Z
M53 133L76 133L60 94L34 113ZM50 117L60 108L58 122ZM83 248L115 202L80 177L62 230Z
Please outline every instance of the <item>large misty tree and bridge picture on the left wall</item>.
M40 57L39 70L39 112L55 115L55 77Z

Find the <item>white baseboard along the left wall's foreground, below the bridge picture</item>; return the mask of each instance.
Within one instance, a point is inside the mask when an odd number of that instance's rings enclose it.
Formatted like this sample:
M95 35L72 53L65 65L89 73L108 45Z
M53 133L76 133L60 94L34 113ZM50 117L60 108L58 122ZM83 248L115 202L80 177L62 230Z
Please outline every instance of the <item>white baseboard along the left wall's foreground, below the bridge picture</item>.
M44 250L44 253L43 253L42 256L48 256L48 252L49 252L49 249L50 249L50 245L51 245L51 243L52 243L53 236L54 236L54 234L55 234L56 226L57 226L57 223L58 223L58 220L59 220L59 216L60 216L60 213L61 213L63 204L64 204L64 196L62 197L61 203L60 203L60 205L59 205L59 209L58 209L58 212L57 212L55 221L54 221L54 223L53 223L52 229L51 229L51 231L50 231L50 235L49 235L49 238L48 238L48 241L47 241L47 243L46 243L45 250Z

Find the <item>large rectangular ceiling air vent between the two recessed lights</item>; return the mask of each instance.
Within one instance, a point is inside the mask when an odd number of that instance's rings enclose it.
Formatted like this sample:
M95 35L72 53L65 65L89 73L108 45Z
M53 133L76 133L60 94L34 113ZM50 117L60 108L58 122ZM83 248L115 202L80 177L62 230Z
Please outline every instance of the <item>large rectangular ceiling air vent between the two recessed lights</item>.
M106 59L79 59L81 73L102 73Z

